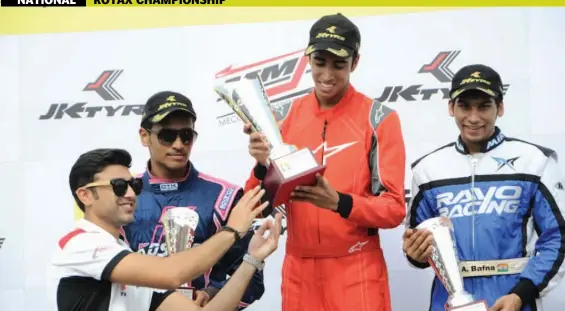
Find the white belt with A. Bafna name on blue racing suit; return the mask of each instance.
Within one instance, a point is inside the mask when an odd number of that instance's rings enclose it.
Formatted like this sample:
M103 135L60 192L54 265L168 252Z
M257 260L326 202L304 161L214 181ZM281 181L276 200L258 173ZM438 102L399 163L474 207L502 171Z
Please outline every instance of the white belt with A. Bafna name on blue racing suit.
M459 271L464 278L519 274L522 273L529 259L529 257L522 257L500 260L461 261L459 263Z

